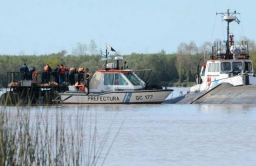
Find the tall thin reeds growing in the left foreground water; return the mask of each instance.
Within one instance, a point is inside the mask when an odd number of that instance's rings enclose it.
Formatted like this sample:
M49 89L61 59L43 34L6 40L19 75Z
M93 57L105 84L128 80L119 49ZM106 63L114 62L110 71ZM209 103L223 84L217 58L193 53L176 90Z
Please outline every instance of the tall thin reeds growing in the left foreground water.
M56 107L45 108L33 112L30 107L1 107L1 166L104 164L123 122L112 134L115 116L99 135L96 111L77 109L67 115Z

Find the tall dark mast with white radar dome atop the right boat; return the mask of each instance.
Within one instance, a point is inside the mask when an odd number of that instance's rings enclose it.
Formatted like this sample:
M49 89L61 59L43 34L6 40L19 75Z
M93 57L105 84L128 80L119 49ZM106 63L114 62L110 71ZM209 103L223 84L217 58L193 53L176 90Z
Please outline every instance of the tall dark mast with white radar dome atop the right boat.
M240 20L238 20L238 18L234 15L236 14L240 14L237 13L236 11L234 12L229 12L230 9L227 9L226 13L216 13L216 15L221 14L224 16L224 20L227 22L227 42L226 42L226 57L225 58L230 58L230 50L229 50L229 23L231 23L232 21L237 22L237 24L240 23Z

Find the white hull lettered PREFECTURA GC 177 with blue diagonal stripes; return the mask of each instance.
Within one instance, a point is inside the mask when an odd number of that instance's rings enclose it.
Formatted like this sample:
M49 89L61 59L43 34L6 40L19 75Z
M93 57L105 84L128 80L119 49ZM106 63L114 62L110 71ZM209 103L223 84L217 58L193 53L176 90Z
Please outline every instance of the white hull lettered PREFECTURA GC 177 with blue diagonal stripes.
M101 94L65 92L59 94L61 104L139 104L162 103L173 90L113 91Z

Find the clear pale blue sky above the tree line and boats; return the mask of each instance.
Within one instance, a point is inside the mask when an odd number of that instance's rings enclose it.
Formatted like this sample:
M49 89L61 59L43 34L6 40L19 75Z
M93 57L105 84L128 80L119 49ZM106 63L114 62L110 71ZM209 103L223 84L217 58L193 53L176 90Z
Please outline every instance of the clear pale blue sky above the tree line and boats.
M0 54L50 54L94 40L119 54L177 52L181 42L226 40L216 12L236 10L235 39L255 40L253 0L0 0Z

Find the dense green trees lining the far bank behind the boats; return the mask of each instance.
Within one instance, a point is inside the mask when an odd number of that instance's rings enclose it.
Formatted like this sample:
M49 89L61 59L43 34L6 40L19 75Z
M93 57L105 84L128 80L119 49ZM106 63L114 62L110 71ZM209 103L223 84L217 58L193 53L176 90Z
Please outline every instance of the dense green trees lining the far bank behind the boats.
M251 59L256 64L255 42L250 40L248 42ZM91 72L94 72L101 68L104 62L101 61L101 55L94 53L98 51L96 51L95 43L93 44L90 45L90 54L86 52L85 45L78 43L77 47L73 49L72 54L69 55L66 55L67 52L65 50L48 55L0 55L0 85L6 85L7 71L18 71L24 62L29 67L35 66L37 71L42 71L46 63L49 63L52 68L57 64L63 63L68 67L86 67ZM203 62L210 57L211 45L209 42L204 42L198 47L194 42L189 42L181 43L178 46L177 53L173 54L166 54L164 50L161 50L158 53L152 54L132 53L123 56L127 61L129 69L153 69L147 81L151 84L186 86L191 85L195 81L197 65L200 59ZM114 56L113 53L112 56ZM109 60L109 62L113 62L113 60ZM143 75L143 73L138 74ZM144 79L147 78L147 74L149 73L144 75Z

